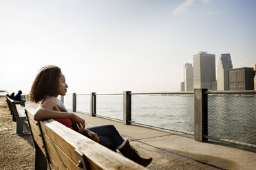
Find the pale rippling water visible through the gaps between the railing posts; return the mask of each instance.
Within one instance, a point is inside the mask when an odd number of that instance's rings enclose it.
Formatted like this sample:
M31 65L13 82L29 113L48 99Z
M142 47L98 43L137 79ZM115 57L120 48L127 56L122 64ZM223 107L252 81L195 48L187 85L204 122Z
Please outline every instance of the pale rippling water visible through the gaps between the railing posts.
M90 110L89 95L78 95L76 110ZM98 115L122 119L122 95L97 95ZM72 108L72 95L64 104ZM194 130L193 95L132 95L131 120L192 132ZM256 97L209 95L209 136L256 144Z

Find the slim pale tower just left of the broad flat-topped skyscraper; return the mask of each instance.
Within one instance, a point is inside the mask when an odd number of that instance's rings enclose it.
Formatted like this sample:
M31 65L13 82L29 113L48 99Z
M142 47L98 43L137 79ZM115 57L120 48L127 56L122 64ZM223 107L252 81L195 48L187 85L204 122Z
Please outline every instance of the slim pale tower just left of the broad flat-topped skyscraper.
M184 91L193 91L193 66L191 63L184 65Z

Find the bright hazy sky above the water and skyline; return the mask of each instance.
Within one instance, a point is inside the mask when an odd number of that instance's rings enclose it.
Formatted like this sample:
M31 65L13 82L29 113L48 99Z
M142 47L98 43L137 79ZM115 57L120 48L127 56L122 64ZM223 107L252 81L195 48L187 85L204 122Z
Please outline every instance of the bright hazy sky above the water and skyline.
M0 90L61 67L67 93L178 91L193 54L256 64L255 0L0 0Z

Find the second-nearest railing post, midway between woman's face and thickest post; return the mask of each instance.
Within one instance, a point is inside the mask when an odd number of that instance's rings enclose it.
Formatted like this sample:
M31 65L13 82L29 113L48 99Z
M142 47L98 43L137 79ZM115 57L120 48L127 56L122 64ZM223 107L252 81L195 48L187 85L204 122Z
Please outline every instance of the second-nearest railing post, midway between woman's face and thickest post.
M125 125L131 125L131 91L123 92L123 106L124 106L124 114L123 114L123 123Z

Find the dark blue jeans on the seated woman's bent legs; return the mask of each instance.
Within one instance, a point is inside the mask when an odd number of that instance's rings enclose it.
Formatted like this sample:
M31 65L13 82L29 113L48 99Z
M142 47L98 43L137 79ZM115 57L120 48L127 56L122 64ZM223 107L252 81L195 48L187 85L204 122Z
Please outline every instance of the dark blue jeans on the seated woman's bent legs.
M121 145L124 141L114 125L88 127L87 130L91 130L92 132L98 134L98 138L100 139L99 143L112 151L116 151L116 147ZM85 136L87 135L85 134Z

